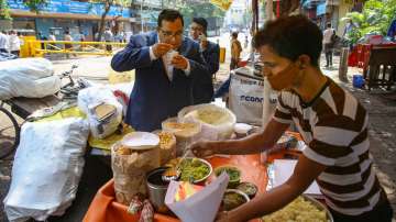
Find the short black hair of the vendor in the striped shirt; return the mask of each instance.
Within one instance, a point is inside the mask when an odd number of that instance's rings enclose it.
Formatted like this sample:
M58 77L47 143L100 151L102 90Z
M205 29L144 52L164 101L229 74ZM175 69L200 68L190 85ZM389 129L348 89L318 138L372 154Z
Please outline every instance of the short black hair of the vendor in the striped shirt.
M292 15L270 21L253 37L253 46L270 46L277 55L296 60L308 55L318 67L323 35L319 27L304 15Z

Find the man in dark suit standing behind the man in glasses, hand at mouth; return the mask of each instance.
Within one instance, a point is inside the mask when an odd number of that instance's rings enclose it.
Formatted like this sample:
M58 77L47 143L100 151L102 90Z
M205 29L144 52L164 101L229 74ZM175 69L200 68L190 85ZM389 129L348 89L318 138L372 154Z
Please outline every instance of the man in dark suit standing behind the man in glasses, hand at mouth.
M209 42L207 36L208 22L204 18L194 18L190 26L190 36L199 42L205 62L208 64L210 78L202 76L194 81L193 96L194 103L208 103L213 97L212 77L219 70L220 47L218 44Z

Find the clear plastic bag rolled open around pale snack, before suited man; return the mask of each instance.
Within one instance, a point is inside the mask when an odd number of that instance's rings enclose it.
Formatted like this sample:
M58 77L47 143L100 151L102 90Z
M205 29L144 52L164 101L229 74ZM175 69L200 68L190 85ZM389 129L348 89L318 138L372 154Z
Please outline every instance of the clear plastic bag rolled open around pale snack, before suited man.
M197 115L205 113L205 116L208 116L211 120L219 121L221 119L221 121L209 124L209 121L199 120L196 113L194 113L195 111L198 113ZM216 104L197 104L186 107L177 113L177 116L180 122L193 121L201 123L201 133L199 138L210 141L222 141L230 138L233 133L234 124L237 123L237 118L230 110L220 108Z

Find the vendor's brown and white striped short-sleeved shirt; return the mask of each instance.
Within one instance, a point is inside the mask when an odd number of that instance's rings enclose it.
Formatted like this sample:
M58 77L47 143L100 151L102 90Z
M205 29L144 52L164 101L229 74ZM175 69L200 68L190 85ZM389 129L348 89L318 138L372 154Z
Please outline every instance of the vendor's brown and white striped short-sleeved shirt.
M310 103L282 91L274 119L294 122L308 145L304 155L328 166L317 182L331 209L359 215L385 201L369 155L367 113L352 95L329 78Z

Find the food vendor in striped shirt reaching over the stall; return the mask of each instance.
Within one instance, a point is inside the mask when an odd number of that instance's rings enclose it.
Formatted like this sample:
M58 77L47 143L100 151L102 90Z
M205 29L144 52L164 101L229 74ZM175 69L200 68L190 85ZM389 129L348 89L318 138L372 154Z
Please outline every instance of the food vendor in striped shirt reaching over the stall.
M254 36L265 75L279 91L264 131L242 140L198 142L198 157L244 155L271 148L295 123L307 147L293 176L250 202L220 213L219 221L248 221L279 210L316 180L334 221L391 222L393 210L372 168L369 118L363 106L319 68L322 34L302 15L266 23Z

